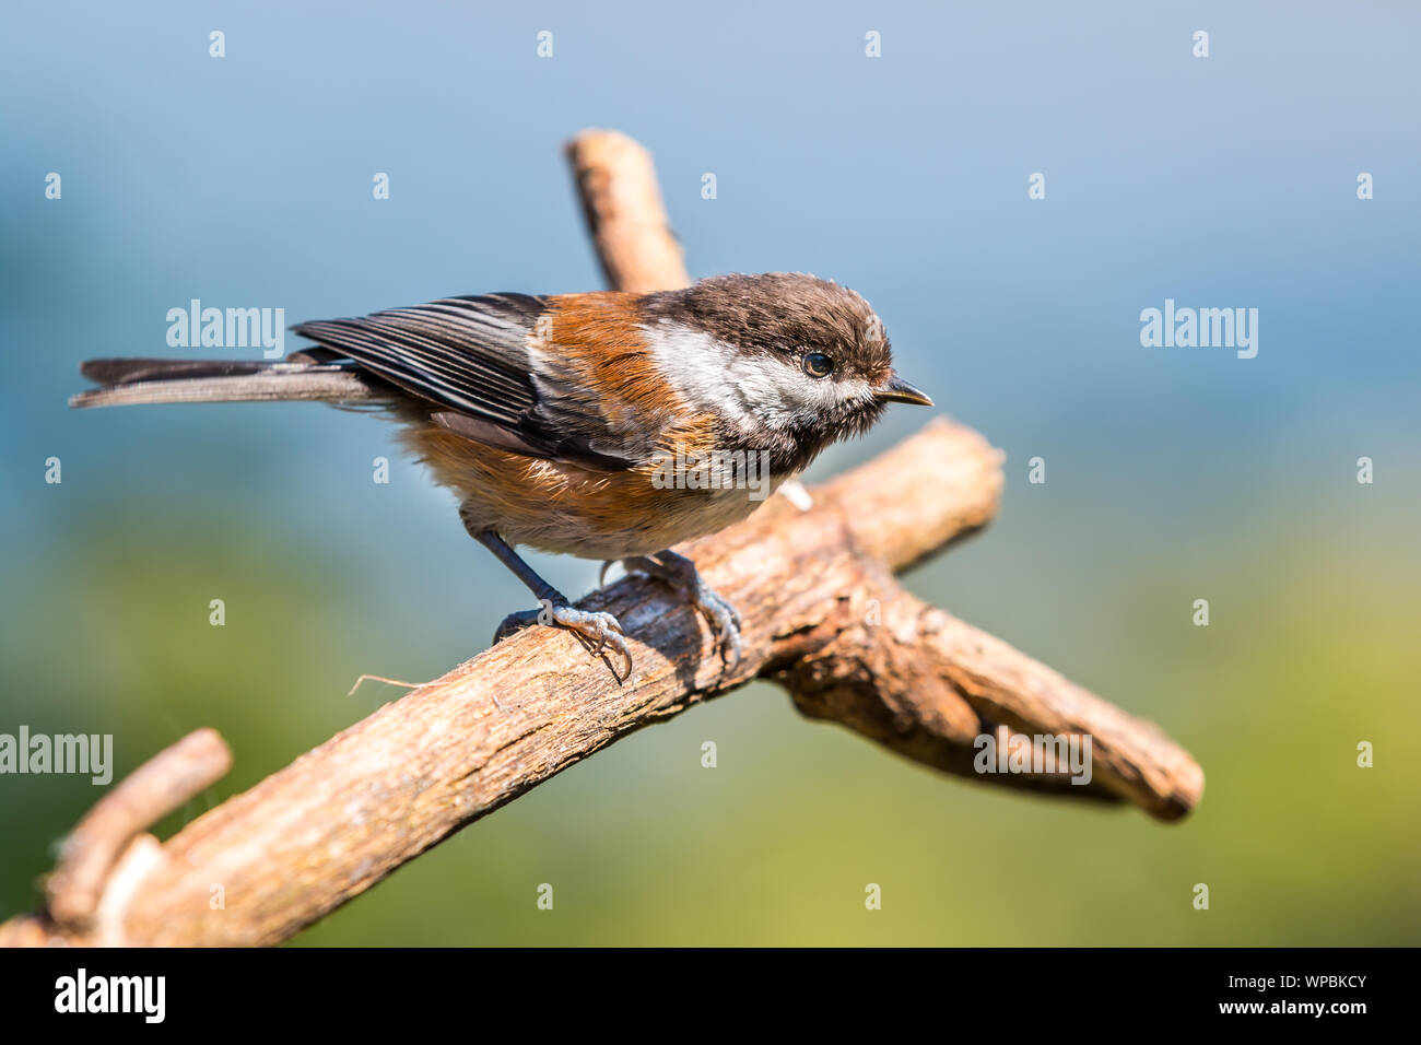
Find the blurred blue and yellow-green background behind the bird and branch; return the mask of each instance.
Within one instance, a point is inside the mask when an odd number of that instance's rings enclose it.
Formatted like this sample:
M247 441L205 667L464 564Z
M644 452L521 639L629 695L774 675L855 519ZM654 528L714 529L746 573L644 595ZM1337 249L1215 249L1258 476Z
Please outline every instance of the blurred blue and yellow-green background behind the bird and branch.
M122 773L216 727L236 768L171 832L398 695L355 675L482 648L527 596L389 427L65 398L87 357L216 354L165 344L193 297L296 323L597 289L560 146L614 127L655 154L693 274L855 287L899 370L1006 451L999 520L908 584L1161 722L1205 800L1161 826L999 795L753 685L298 943L1418 943L1421 14L1242 7L7 4L0 732L111 732ZM1258 357L1142 348L1167 297L1256 307ZM0 778L0 914L99 793Z

